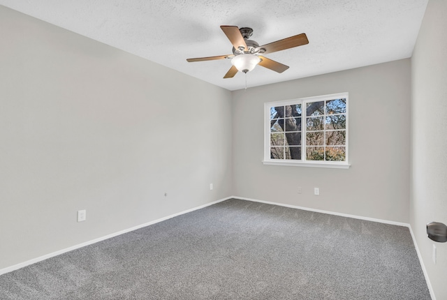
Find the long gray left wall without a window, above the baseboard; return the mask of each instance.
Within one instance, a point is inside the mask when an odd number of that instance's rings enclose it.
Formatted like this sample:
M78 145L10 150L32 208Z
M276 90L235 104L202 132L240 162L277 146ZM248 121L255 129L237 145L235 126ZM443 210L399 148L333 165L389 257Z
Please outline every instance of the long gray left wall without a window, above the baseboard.
M3 6L0 37L0 269L231 195L230 91Z

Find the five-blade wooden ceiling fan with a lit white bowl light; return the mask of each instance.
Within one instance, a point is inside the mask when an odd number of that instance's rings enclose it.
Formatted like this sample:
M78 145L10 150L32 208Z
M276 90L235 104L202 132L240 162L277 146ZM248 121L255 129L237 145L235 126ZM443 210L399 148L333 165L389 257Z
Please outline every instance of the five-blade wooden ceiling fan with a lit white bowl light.
M277 40L276 42L260 46L256 41L249 40L253 34L253 29L249 27L238 28L237 26L221 26L223 33L226 34L228 40L233 44L233 54L219 55L217 57L199 57L196 59L186 59L186 61L212 61L216 59L231 59L230 70L223 78L234 77L238 70L242 73L247 73L254 69L256 65L263 66L278 73L283 73L288 69L288 66L263 57L260 54L268 54L280 50L286 50L309 43L306 33L291 36Z

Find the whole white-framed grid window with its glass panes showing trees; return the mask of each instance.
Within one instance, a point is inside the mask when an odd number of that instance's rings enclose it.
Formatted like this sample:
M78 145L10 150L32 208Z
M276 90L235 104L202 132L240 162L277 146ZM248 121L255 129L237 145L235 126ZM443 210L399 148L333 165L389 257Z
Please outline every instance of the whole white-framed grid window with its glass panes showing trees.
M348 93L265 103L264 164L349 167Z

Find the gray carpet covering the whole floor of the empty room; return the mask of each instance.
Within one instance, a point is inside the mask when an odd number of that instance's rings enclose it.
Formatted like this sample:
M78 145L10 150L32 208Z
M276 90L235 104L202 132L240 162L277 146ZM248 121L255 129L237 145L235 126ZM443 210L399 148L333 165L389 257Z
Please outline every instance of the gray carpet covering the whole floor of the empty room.
M409 229L227 200L0 276L1 299L430 299Z

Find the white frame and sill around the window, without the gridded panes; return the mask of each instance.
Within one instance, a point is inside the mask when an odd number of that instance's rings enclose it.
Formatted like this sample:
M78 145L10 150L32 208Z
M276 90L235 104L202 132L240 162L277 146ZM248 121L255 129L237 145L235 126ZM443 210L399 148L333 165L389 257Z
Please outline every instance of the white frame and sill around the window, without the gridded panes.
M324 101L324 100L334 100L346 98L346 160L345 161L328 161L328 160L306 160L306 105L307 103ZM291 104L301 104L301 156L302 160L291 160L291 159L272 159L270 158L270 107L291 105ZM264 165L288 165L296 167L329 167L329 168L339 168L348 169L351 165L349 164L349 93L332 93L330 95L298 98L291 100L273 101L264 103Z

